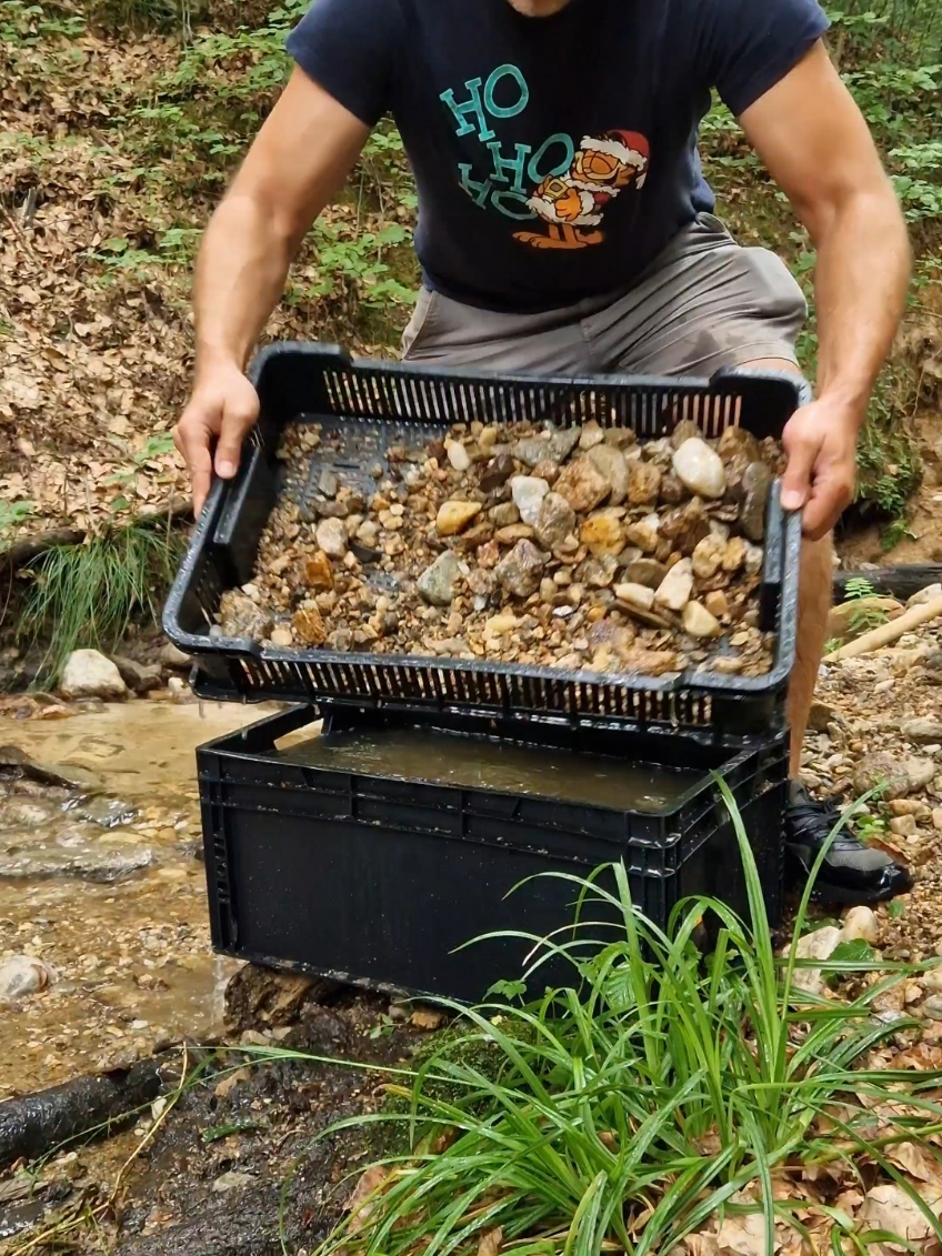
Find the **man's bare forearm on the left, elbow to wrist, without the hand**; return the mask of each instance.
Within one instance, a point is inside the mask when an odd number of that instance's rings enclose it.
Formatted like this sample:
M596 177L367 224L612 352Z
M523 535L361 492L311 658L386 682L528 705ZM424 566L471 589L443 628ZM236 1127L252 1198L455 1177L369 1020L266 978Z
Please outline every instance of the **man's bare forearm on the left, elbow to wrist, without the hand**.
M206 230L196 268L196 373L242 369L284 290L295 240L252 197L230 195Z

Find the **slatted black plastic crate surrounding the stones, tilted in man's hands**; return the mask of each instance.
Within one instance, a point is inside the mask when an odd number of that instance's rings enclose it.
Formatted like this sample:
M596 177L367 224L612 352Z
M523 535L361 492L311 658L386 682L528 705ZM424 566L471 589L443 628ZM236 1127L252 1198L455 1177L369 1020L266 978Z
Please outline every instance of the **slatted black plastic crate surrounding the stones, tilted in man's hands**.
M712 725L728 732L770 732L784 726L784 697L795 657L800 520L786 516L772 492L761 585L761 627L777 637L767 676L685 672L644 677L565 672L487 661L465 662L402 654L278 649L210 637L222 593L245 584L269 514L285 487L275 456L286 423L304 418L340 438L330 466L347 482L368 480L371 463L397 443L425 442L455 422L509 422L530 417L558 426L595 420L627 426L639 440L669 433L695 417L707 436L741 423L759 437L779 435L809 393L786 374L721 373L711 381L497 377L357 362L325 345L276 344L251 372L261 401L235 481L216 481L171 590L163 627L196 656L193 686L201 697L256 702L269 698L349 702L355 706L462 712L520 718L566 715L628 725ZM325 465L311 457L304 500ZM373 484L373 481L369 481Z

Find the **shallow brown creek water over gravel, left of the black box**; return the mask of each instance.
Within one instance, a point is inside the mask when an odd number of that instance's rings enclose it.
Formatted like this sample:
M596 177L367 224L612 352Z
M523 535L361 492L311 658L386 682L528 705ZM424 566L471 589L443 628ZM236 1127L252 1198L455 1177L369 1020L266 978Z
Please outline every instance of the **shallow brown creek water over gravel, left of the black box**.
M0 746L75 782L0 784L0 962L54 973L0 1005L0 1099L217 1027L236 966L210 951L193 751L264 713L141 701L0 720Z

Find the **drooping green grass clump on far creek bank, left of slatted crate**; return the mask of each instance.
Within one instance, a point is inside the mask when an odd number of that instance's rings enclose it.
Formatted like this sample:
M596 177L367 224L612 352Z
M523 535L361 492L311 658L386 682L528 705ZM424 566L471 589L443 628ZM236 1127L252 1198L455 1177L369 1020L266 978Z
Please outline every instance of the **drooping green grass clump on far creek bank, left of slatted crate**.
M46 642L39 683L54 683L73 649L114 649L136 615L160 619L183 548L166 521L137 522L35 559L19 637Z

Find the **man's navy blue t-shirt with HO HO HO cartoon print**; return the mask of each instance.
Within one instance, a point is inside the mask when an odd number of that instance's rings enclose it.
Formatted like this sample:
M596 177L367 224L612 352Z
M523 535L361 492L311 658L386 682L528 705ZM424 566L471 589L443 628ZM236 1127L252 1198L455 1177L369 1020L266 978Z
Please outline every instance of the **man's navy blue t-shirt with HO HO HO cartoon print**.
M368 126L394 117L428 286L528 313L631 286L711 210L711 90L741 114L826 28L816 0L314 0L288 48Z

